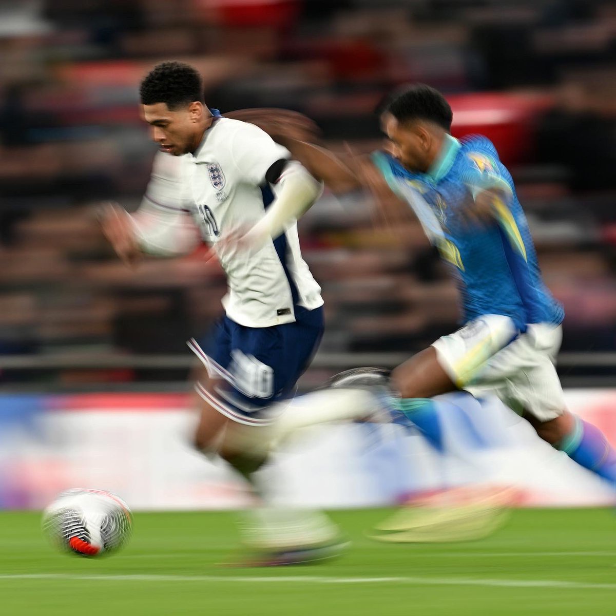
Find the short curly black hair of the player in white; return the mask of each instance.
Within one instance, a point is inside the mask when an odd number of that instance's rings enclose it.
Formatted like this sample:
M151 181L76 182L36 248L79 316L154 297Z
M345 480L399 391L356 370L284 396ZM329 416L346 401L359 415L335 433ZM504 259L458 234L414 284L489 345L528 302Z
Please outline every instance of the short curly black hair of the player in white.
M196 68L182 62L161 62L141 82L142 104L166 103L169 109L203 102L203 81Z

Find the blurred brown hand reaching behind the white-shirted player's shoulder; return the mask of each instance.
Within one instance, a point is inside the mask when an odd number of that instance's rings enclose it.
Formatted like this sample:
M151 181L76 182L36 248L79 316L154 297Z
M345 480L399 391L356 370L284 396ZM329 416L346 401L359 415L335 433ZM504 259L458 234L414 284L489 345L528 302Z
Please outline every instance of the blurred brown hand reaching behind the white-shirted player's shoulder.
M320 134L317 124L310 118L288 109L255 108L239 109L224 114L225 118L255 124L267 132L272 139L282 143L285 140L314 143Z

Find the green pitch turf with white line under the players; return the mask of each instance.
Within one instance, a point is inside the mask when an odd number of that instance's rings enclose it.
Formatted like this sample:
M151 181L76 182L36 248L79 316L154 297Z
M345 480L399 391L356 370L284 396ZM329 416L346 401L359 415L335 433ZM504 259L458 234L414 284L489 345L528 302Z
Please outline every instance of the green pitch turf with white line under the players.
M237 541L230 513L138 513L130 545L107 559L56 554L38 514L2 513L0 614L616 614L612 511L516 511L474 543L365 538L389 513L334 512L352 540L346 556L275 569L220 566Z

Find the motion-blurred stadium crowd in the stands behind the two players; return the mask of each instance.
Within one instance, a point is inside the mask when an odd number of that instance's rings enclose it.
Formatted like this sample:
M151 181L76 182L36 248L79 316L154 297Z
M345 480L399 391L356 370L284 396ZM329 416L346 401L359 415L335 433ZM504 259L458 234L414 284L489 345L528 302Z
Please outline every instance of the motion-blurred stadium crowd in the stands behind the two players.
M513 172L565 304L563 350L616 347L614 2L0 0L0 365L184 352L219 314L224 278L205 250L129 270L93 214L100 200L139 205L155 145L137 86L163 59L198 67L222 113L302 111L358 152L381 142L374 110L388 89L438 87L454 134L486 134ZM325 193L300 225L326 301L322 350L410 354L455 328L455 286L418 224L375 229L368 200Z

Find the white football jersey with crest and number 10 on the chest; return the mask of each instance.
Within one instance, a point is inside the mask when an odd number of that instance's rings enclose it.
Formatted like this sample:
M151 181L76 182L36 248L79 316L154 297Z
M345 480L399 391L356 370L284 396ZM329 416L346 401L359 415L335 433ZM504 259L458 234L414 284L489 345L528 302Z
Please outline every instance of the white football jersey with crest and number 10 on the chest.
M164 225L176 233L169 235L171 242L167 238L171 244L167 248L160 233L150 233L156 238L152 251L177 254L182 250L172 246L173 237L179 238L180 229L182 237L187 235L182 213L190 213L227 274L228 291L222 303L227 316L240 325L291 323L295 306L312 310L323 304L321 288L302 259L296 224L256 252L217 246L230 231L247 229L264 216L273 200L265 173L277 160L290 157L286 148L253 124L217 118L194 155L158 153L142 207L134 217L147 249L145 219L140 221L139 216L142 211L156 211L160 221L153 224L150 217L148 224L159 229Z

